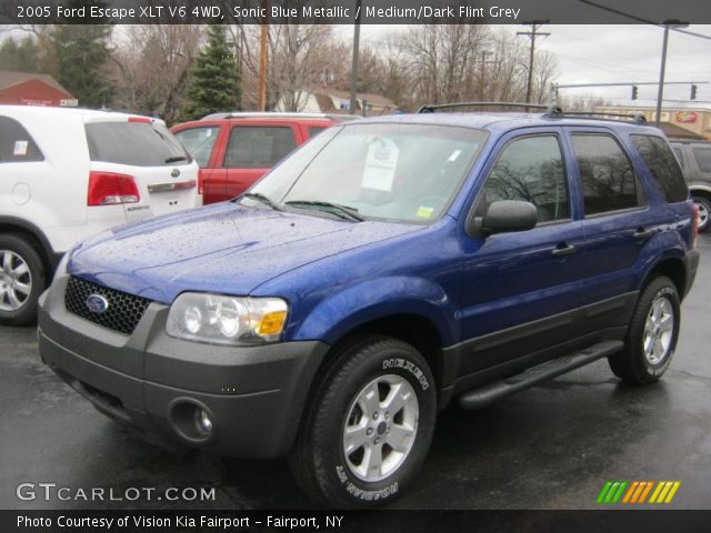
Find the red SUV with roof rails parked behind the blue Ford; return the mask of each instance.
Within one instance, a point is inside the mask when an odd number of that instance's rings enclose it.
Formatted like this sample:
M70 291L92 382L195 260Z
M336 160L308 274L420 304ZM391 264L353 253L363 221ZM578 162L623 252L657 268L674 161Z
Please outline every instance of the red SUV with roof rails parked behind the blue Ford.
M172 133L200 165L203 203L234 198L299 144L358 117L321 113L214 113L177 124Z

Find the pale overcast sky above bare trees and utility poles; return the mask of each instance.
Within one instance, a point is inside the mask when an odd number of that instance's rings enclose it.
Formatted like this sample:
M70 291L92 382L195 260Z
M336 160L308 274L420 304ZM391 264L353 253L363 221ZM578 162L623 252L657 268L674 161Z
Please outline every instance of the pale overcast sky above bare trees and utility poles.
M703 0L705 1L705 0ZM508 31L527 31L523 26L508 26ZM692 24L685 30L709 36L700 39L670 31L667 51L665 81L711 82L711 26ZM382 41L393 31L407 31L402 26L363 26L361 40L367 44ZM550 37L537 39L537 49L551 52L558 61L555 81L568 83L627 83L659 81L663 29L655 26L564 26L549 24L541 31ZM342 34L352 33L343 27ZM527 46L530 42L525 37ZM632 103L631 87L561 89L561 94L599 94L613 104ZM689 99L690 86L665 86L664 100ZM698 84L697 100L710 102L711 83ZM657 86L639 86L638 104L654 104ZM667 103L667 102L665 102ZM670 102L670 104L673 102Z

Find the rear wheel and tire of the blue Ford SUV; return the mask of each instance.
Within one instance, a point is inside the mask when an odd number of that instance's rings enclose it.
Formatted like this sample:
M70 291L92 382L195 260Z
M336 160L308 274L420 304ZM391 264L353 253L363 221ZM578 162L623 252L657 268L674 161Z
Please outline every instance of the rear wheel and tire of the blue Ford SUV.
M667 309L671 312L672 322L670 335L667 335L660 326L651 326L652 309ZM661 314L660 316L668 316ZM610 369L624 383L643 385L658 381L671 363L679 339L679 324L681 319L679 293L677 286L669 278L657 276L642 290L632 315L632 322L627 334L624 350L610 356ZM661 324L661 323L660 323ZM648 328L648 325L650 325ZM648 335L648 332L651 334ZM659 335L659 336L657 336ZM659 350L654 342L651 351L645 352L645 339L659 340Z

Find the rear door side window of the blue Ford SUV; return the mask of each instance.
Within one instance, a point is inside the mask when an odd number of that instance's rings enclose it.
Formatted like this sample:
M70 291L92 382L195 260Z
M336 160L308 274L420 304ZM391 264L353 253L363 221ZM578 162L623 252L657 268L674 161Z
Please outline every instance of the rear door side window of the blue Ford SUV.
M614 138L574 133L572 143L587 215L635 209L647 203L632 163Z

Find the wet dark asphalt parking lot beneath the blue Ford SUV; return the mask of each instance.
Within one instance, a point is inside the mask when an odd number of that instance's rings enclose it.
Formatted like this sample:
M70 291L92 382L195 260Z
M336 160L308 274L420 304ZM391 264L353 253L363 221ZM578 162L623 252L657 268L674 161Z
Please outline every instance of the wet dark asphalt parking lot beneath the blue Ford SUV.
M711 237L664 379L627 388L605 361L482 411L441 413L398 509L599 509L608 480L677 480L668 507L711 509ZM177 455L140 440L40 362L32 328L0 328L0 509L302 509L286 461ZM214 487L213 501L22 501L20 483ZM38 494L39 495L39 494ZM649 506L649 505L647 505Z

